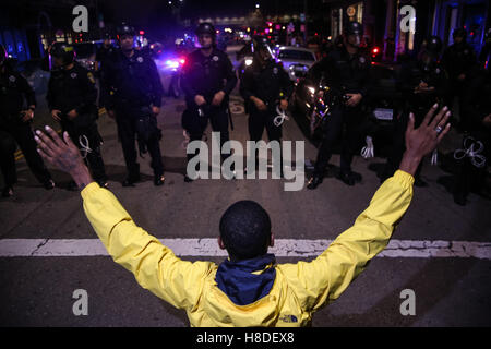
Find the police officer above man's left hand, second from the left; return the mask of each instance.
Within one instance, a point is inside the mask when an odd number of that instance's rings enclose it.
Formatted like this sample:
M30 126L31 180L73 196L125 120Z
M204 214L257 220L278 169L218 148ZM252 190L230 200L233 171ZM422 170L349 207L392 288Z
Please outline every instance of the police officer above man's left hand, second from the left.
M51 76L46 98L51 117L60 122L81 149L94 179L107 186L107 176L100 154L103 139L97 130L97 88L94 75L75 61L72 45L56 43L50 50ZM70 183L74 189L74 183Z

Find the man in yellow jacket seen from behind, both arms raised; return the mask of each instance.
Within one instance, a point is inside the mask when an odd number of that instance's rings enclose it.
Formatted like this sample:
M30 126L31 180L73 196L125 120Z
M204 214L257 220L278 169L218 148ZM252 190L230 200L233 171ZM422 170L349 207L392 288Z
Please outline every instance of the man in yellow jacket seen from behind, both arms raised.
M113 261L157 297L187 311L192 326L307 326L383 251L412 198L414 174L450 130L450 111L434 105L418 129L410 115L399 169L376 191L352 227L312 262L277 264L268 214L240 201L220 219L218 245L229 257L188 262L136 226L118 200L93 181L67 133L36 131L39 154L70 173L82 190L85 215ZM164 208L165 209L165 208ZM163 233L163 232L159 232Z

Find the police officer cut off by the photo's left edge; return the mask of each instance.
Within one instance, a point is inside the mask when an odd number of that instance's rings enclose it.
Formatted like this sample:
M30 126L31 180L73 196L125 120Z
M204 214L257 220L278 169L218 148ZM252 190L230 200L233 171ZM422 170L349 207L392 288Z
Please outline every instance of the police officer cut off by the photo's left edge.
M24 107L24 100L26 106ZM15 171L15 143L21 147L31 171L50 190L55 188L51 174L37 153L31 122L36 109L33 88L8 62L7 50L0 45L0 169L4 178L2 196L13 195L17 181Z

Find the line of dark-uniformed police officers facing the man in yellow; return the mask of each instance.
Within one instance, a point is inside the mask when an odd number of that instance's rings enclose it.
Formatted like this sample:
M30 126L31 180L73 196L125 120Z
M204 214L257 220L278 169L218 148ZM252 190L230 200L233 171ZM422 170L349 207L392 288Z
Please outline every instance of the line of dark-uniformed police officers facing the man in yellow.
M360 46L362 34L359 23L348 23L336 47L310 70L310 77L316 83L323 76L327 77L331 93L339 97L322 125L323 137L307 186L310 190L322 183L339 140L339 179L348 185L361 181L361 176L351 170L351 161L362 139L360 125L366 117L362 106L370 98L373 83L370 55ZM156 116L160 112L164 88L151 55L134 48L134 35L131 26L122 24L117 35L119 48L113 48L106 40L97 53L100 64L99 106L106 108L118 128L127 166L122 185L133 186L140 181L137 156L146 153L151 157L154 184L161 185L165 181L159 146L161 132ZM209 120L213 131L220 132L223 144L229 140L229 128L232 127L229 95L238 79L228 56L216 47L213 25L200 24L196 36L200 48L187 57L181 71L187 106L182 127L190 141L202 140ZM459 163L454 185L454 200L464 205L471 185L482 183L486 178L486 166L476 166L472 155L476 153L474 146L482 145L482 156L489 158L491 83L489 69L480 68L472 47L466 43L466 31L454 31L453 38L454 44L441 56L441 39L429 37L417 57L403 62L397 80L403 103L394 112L393 146L382 179L392 176L398 168L405 149L409 113L415 115L418 125L432 105L438 103L452 108L457 97L457 127L466 137L465 146L470 147L471 144L472 147ZM287 110L294 84L283 67L273 59L265 38L253 38L252 51L253 63L243 72L239 88L249 113L249 136L251 141L259 141L265 129L270 141L280 141L282 125L275 120L278 113ZM69 44L55 43L49 49L49 58L51 76L47 100L51 116L79 145L94 179L99 185L107 186L108 178L100 153L103 139L96 123L98 96L95 76L77 64L73 46ZM0 166L5 181L2 195L11 196L16 182L15 143L37 180L47 190L52 189L55 183L36 152L29 124L36 108L34 92L26 80L9 67L3 48L0 51ZM188 154L188 160L194 155ZM226 157L223 155L223 160ZM421 168L416 176L416 185L426 185L420 172ZM192 179L184 176L184 181L191 182Z

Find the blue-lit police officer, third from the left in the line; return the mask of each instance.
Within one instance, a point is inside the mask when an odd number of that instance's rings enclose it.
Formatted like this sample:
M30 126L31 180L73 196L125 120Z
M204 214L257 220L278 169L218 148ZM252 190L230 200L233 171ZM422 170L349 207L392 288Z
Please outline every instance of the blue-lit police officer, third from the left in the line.
M154 184L158 186L165 181L159 145L161 132L157 127L164 88L152 57L134 49L134 28L124 23L118 27L120 47L103 67L103 105L118 125L128 171L122 185L134 186L141 179L137 140L140 155L149 153Z

